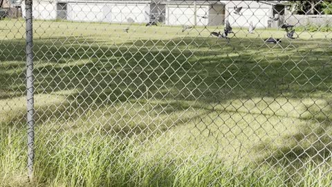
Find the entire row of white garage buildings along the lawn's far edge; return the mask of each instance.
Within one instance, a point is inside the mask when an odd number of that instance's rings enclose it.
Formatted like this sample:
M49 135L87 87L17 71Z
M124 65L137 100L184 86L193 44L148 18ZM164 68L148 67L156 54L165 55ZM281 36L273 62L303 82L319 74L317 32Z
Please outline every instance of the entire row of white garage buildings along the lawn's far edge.
M24 1L21 3L24 10ZM234 7L242 7L234 14ZM25 16L25 11L22 12ZM277 1L184 1L184 0L34 0L35 19L100 21L112 23L147 23L167 25L219 26L227 19L233 27L276 27L275 14L284 15L284 5Z

